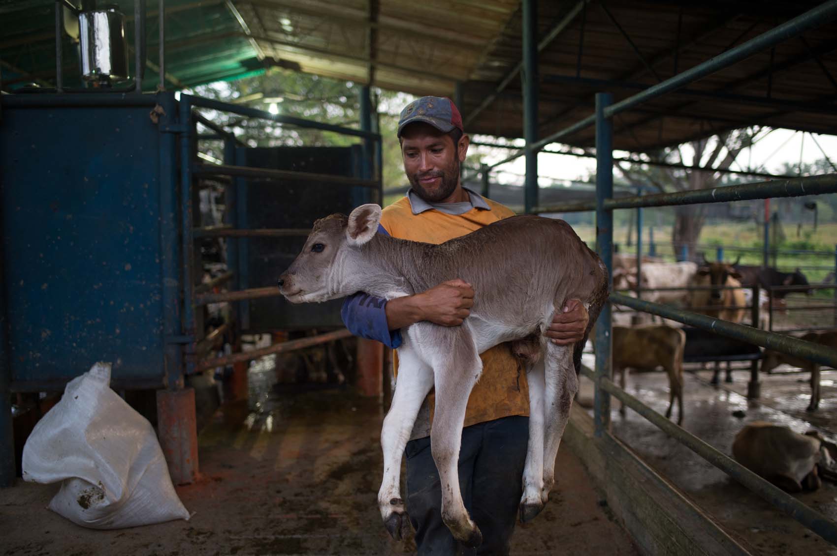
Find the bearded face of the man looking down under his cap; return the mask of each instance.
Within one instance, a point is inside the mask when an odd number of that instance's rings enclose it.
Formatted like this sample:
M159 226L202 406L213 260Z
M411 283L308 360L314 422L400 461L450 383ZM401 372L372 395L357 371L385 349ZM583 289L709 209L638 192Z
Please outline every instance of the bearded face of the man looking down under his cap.
M442 202L454 194L460 182L459 150L449 135L432 125L416 122L404 128L404 171L413 191L424 201Z

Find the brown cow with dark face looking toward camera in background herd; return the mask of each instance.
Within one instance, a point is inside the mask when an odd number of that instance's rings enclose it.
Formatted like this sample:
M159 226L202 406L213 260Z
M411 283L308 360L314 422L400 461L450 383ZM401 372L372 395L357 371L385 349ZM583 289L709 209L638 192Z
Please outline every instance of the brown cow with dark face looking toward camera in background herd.
M703 265L691 279L692 287L711 286L711 289L693 289L689 292L689 307L696 313L716 319L740 323L747 315L744 304L744 290L739 288L741 275L727 263L710 263L703 259ZM721 289L723 287L736 289Z

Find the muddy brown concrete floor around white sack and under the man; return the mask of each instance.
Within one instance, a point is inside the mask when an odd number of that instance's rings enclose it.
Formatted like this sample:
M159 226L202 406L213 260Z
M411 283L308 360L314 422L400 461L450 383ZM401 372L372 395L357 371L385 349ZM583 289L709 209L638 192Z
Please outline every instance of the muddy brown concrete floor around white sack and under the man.
M0 552L61 554L403 554L377 511L377 402L345 391L278 394L257 365L249 402L223 406L202 431L201 480L177 487L190 521L117 531L80 528L46 509L57 485L0 490ZM518 526L512 554L634 555L581 463L562 449L544 512Z

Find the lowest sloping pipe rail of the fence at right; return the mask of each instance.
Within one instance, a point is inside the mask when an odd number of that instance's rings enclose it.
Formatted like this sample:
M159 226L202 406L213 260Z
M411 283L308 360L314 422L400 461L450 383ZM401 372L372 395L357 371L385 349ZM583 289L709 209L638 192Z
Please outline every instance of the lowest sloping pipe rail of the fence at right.
M686 432L680 426L675 425L664 416L652 410L649 406L634 398L633 395L629 395L619 388L619 386L614 385L611 380L601 378L599 379L598 385L602 390L607 391L608 394L622 401L625 406L628 406L648 421L651 421L651 423L659 427L667 435L679 441L680 444L683 444L691 451L694 451L698 456L710 462L722 472L727 473L727 475L740 482L744 487L755 492L758 496L763 497L766 501L773 504L773 506L787 513L791 518L796 519L799 523L802 523L829 543L837 544L837 523L826 518L822 513L809 508L787 492L783 492L780 488L774 487L762 477L757 476L754 472L747 469L747 467L742 466L740 463L732 460L732 458L709 446L697 436Z

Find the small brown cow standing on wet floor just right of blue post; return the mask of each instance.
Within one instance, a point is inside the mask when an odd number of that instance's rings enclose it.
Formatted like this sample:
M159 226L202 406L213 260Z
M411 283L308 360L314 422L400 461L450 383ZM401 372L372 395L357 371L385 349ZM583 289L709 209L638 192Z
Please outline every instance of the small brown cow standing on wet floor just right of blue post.
M651 324L627 328L613 328L613 368L619 371L619 382L625 389L627 368L655 370L661 366L669 376L669 408L665 417L671 417L671 410L677 398L680 412L677 424L683 422L683 350L686 334L681 329L665 324ZM619 410L624 415L624 404Z

